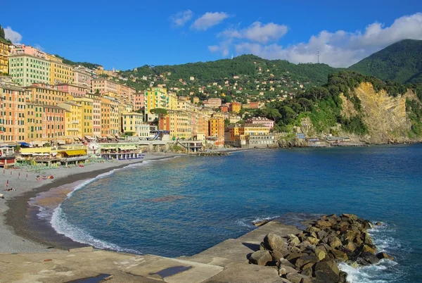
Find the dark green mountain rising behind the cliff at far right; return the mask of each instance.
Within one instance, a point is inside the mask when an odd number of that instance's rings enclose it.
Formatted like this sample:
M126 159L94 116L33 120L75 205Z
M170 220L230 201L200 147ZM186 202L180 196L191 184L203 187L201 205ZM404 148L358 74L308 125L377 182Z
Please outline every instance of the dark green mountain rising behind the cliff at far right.
M350 66L350 70L395 82L422 82L422 40L405 39Z

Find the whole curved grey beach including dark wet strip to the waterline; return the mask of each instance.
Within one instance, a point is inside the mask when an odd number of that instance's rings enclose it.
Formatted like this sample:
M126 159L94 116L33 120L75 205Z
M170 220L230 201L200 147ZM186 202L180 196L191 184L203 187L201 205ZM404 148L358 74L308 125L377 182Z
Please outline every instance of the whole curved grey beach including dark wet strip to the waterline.
M188 155L176 153L151 154L142 159L91 163L83 168L47 169L42 174L21 169L4 170L4 174L0 174L0 182L5 184L5 188L6 182L9 182L8 188L14 188L16 191L1 191L5 199L0 199L0 237L2 239L0 253L49 253L88 246L58 234L45 221L34 221L37 218L36 215L27 217L28 213L38 213L38 210L32 209L30 211L31 206L28 201L37 194L55 187L95 178L103 173L143 161L158 161L176 156ZM54 179L37 181L37 175L53 175ZM46 234L51 237L45 239Z

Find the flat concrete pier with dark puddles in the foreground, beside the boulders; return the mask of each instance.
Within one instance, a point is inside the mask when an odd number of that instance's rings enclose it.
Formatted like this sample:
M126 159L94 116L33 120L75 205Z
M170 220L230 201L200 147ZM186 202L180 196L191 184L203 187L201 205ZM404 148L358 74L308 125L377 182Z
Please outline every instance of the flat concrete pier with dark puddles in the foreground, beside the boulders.
M298 231L273 220L238 239L180 258L136 256L91 247L58 253L0 254L0 283L92 283L100 279L147 283L285 282L274 268L248 264L248 257L260 249L260 242L269 232L283 237Z

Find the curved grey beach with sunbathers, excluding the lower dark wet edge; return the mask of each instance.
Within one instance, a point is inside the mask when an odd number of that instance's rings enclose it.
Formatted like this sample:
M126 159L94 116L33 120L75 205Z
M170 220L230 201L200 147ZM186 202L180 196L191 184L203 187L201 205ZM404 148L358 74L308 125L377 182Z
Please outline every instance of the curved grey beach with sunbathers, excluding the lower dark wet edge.
M51 243L37 238L27 225L27 201L41 191L69 184L77 180L96 177L104 172L143 161L181 156L172 153L147 154L143 159L128 161L106 161L90 163L84 167L58 168L27 172L23 169L0 171L0 253L48 253L60 249L51 248ZM50 176L53 179L37 180L37 176ZM13 191L5 191L13 189ZM55 246L55 245L53 245ZM49 249L47 249L49 248Z

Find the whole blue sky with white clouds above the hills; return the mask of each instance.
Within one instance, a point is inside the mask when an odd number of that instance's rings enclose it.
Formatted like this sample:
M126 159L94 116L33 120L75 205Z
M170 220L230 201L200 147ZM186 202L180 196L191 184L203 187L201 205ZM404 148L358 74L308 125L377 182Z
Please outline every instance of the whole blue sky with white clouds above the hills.
M241 54L348 67L422 39L422 0L2 1L6 37L110 70ZM108 4L108 3L113 4Z

